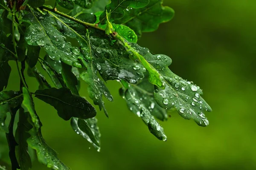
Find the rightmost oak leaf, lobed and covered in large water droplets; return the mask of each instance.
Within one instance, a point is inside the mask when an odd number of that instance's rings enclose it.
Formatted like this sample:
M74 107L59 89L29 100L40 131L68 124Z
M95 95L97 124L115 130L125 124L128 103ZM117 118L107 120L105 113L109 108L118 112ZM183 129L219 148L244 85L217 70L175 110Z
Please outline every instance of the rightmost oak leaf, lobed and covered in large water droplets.
M147 48L137 44L132 45L159 74L163 77L165 87L155 87L154 98L162 108L175 107L180 116L185 119L194 119L200 126L207 126L209 121L204 112L212 111L210 106L201 97L202 90L192 82L186 81L169 70L172 60L163 54L152 55Z

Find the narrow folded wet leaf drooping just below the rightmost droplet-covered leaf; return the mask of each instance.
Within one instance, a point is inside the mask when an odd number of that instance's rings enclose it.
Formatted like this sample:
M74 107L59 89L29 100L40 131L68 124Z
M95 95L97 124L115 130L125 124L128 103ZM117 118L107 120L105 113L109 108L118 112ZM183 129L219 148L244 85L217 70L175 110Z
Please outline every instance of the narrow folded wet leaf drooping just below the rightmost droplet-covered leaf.
M151 112L153 112L151 110L151 102L149 104L148 100L144 98L144 100L140 100L142 97L141 93L143 93L141 92L141 89L137 90L136 86L129 86L128 89L121 88L119 93L126 100L128 108L130 108L130 110L137 116L141 117L143 122L148 126L149 131L158 139L166 141L167 137L163 132L163 127L159 125L159 123L154 119L154 116L151 114ZM148 94L146 94L144 97L151 98L151 96L148 96ZM151 99L151 101L155 104L153 99Z

